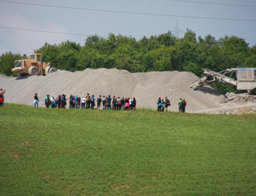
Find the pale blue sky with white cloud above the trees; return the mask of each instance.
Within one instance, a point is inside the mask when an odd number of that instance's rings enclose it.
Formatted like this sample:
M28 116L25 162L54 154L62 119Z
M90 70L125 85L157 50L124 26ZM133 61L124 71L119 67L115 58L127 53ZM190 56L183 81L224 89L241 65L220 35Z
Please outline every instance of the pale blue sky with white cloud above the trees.
M16 3L7 3L6 1ZM44 46L45 42L59 44L69 40L83 46L87 36L98 35L107 38L109 33L131 36L139 40L143 36L150 37L172 31L174 35L182 38L186 29L194 31L197 37L204 38L211 34L219 39L226 35L234 35L245 39L250 47L256 45L256 1L254 0L6 1L0 1L0 55L9 51L21 55L30 54ZM17 4L17 2L83 9ZM203 4L202 2L214 4ZM153 15L132 13L151 13ZM194 18L195 16L247 19L247 21ZM176 30L179 30L179 33L175 33Z

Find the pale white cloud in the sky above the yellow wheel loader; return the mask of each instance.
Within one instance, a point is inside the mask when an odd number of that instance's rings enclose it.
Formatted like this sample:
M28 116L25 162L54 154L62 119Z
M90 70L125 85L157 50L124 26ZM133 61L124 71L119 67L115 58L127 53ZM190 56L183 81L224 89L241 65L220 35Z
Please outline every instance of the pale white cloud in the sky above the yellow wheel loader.
M68 33L67 29L56 24L54 21L44 21L43 23L36 24L17 13L2 12L1 15L4 17L0 17L0 26ZM45 42L54 44L66 41L67 39L72 39L72 36L0 28L0 55L9 51L29 54L44 46Z

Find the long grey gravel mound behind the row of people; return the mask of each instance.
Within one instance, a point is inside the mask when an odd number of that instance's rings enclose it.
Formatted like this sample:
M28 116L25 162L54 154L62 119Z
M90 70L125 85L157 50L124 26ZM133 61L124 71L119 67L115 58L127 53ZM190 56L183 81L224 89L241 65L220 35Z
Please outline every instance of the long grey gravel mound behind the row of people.
M202 88L193 90L189 85L198 77L190 72L147 72L130 73L117 69L86 69L84 71L58 71L46 76L7 77L0 75L0 88L5 89L5 102L32 105L37 93L40 106L47 94L57 97L59 94L86 95L90 92L99 95L135 97L138 107L157 107L158 97L167 96L172 106L178 110L178 101L185 98L186 111L194 112L219 107L225 96L219 92ZM69 103L68 103L69 104Z

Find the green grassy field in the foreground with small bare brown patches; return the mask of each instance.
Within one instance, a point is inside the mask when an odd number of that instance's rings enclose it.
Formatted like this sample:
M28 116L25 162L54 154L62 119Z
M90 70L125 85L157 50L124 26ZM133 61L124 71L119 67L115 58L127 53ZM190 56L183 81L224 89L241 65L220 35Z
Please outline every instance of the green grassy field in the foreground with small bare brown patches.
M0 195L256 195L256 115L0 108Z

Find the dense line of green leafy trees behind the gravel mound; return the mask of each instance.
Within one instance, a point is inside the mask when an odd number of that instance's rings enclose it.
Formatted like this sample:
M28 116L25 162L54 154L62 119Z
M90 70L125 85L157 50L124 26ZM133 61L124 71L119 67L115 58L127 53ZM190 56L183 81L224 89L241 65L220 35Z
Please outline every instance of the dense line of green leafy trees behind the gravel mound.
M84 45L65 41L59 45L45 43L40 49L43 60L52 66L68 71L82 71L86 68L116 68L129 72L150 71L188 71L201 77L202 69L222 71L227 68L255 67L256 45L248 43L237 36L225 36L217 40L212 35L196 37L192 30L177 38L171 31L143 37L109 34L108 38L97 35L89 36ZM0 56L0 74L15 76L11 72L14 61L21 59L20 54L7 52ZM215 83L215 88L234 91L234 87Z

